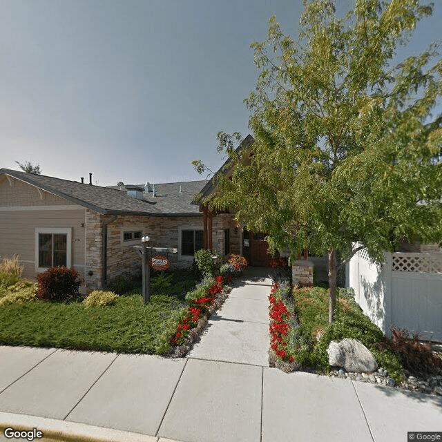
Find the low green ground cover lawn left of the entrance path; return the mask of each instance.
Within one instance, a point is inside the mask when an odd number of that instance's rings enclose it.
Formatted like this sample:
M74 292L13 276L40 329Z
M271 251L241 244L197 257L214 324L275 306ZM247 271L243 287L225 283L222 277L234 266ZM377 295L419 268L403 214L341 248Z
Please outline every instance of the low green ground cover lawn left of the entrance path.
M154 354L171 318L184 307L184 289L194 283L189 273L172 274L169 287L153 285L146 306L140 289L113 305L88 309L81 299L2 305L0 344Z

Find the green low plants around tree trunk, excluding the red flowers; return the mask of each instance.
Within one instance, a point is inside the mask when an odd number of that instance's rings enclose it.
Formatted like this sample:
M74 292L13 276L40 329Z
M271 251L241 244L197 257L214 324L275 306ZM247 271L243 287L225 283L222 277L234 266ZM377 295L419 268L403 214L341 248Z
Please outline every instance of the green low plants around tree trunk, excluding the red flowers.
M300 327L289 333L289 348L298 363L329 372L327 348L330 341L358 339L373 354L397 383L402 381L402 365L390 350L381 351L374 344L385 339L381 329L372 324L346 289L338 291L334 323L328 323L327 289L295 289L294 311Z

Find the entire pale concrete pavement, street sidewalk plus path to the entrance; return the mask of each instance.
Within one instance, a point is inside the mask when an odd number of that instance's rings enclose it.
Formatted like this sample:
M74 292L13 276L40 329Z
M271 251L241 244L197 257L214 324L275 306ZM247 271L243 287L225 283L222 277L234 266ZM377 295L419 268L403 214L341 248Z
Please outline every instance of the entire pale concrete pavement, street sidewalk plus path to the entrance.
M238 283L187 358L0 346L0 441L26 440L6 439L8 426L76 442L403 442L442 431L441 396L269 368L268 294L258 276Z

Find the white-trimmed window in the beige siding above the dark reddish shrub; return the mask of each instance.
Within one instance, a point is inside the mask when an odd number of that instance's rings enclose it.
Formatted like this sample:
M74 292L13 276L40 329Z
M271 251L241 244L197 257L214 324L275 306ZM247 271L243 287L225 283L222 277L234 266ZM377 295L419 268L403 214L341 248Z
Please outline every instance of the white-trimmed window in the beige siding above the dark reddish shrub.
M45 271L50 267L71 265L72 229L37 227L35 229L35 268Z

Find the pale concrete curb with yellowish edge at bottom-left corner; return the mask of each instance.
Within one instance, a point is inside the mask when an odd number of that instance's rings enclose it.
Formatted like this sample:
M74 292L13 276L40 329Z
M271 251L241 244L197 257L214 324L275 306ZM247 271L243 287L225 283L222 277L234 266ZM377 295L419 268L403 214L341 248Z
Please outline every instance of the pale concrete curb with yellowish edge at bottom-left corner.
M43 439L35 441L57 442L178 442L170 439L147 436L112 428L95 427L86 423L59 421L27 414L12 414L0 412L0 435L6 428L12 427L17 431L30 431L37 428L43 432ZM10 441L25 439L10 439Z

